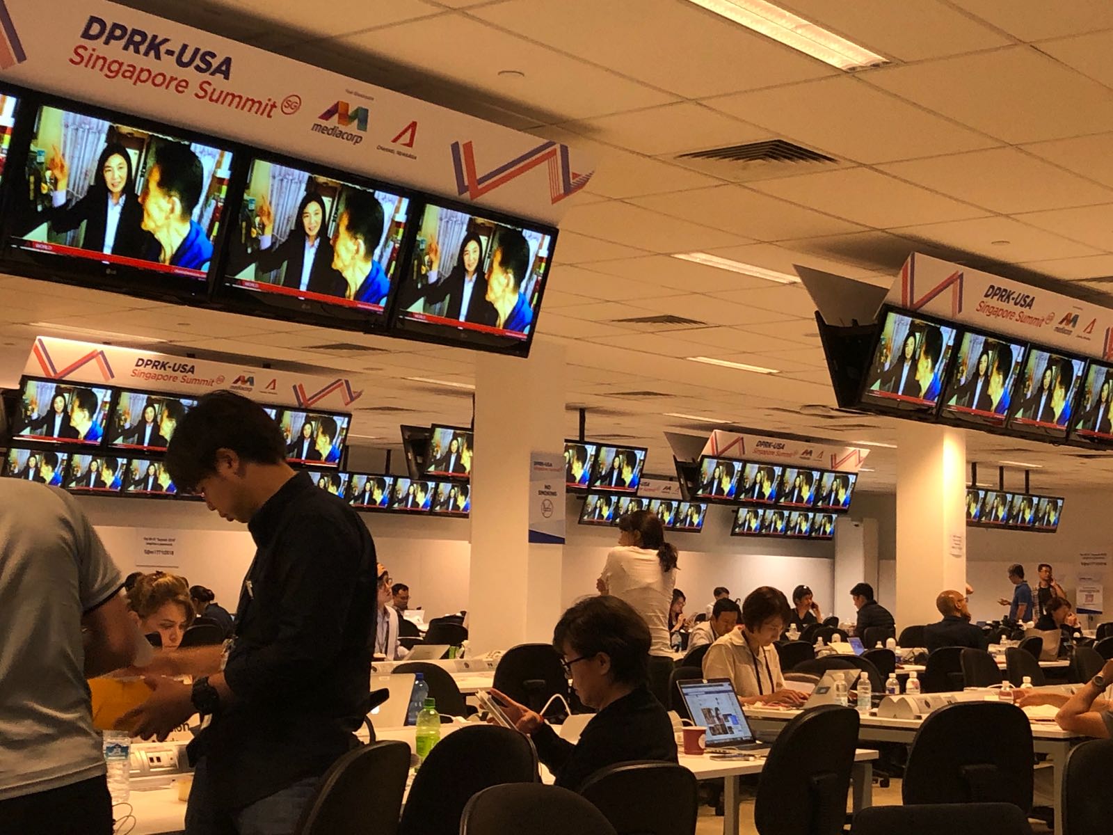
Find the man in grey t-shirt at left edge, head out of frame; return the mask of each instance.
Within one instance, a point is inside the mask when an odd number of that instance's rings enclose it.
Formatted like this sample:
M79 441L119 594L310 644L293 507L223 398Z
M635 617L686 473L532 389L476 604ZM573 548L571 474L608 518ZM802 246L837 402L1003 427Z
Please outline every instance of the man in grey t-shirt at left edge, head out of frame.
M87 677L131 664L119 569L77 501L0 479L0 835L108 835Z

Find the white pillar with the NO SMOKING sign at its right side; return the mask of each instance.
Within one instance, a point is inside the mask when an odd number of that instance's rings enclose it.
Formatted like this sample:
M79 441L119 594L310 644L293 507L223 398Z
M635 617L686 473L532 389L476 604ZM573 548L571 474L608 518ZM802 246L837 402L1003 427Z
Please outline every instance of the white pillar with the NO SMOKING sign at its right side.
M560 618L563 546L531 544L531 453L563 462L565 352L538 336L528 360L475 362L469 646L473 655L549 642ZM553 512L564 511L563 478Z

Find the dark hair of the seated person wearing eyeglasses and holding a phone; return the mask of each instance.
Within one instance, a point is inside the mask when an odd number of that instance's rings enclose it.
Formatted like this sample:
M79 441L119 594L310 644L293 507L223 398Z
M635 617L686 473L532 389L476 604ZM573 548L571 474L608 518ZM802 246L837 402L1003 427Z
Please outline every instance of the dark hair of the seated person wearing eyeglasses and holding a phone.
M565 644L577 656L605 654L618 682L642 685L649 678L649 627L628 602L613 595L589 597L561 616L553 629L553 647L563 654Z

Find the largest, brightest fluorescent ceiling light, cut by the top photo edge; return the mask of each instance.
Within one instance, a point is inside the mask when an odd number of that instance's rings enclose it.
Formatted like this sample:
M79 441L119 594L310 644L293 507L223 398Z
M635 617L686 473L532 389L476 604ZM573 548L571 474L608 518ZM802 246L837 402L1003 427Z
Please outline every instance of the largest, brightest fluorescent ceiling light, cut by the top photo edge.
M889 62L884 56L859 47L766 0L689 0L689 2L840 70L877 67Z

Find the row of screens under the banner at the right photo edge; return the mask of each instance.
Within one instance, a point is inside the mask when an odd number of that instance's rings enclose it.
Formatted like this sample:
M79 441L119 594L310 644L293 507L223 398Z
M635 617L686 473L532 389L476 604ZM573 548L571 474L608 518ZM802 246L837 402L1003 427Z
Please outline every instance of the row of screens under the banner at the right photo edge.
M856 407L1113 444L1113 364L895 308L883 314ZM828 351L833 372L840 360ZM834 382L838 391L845 375Z

